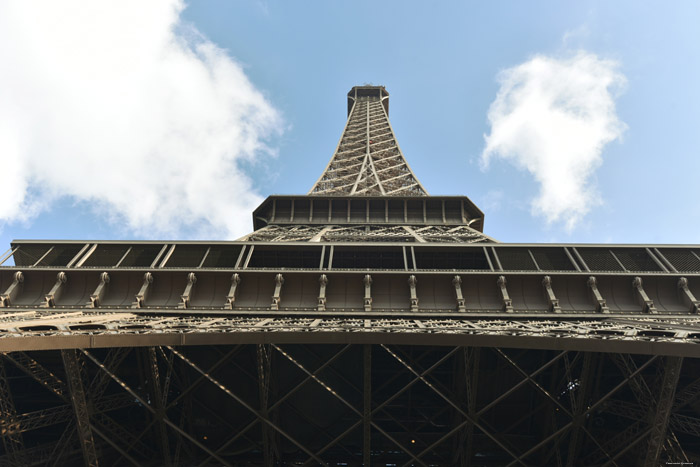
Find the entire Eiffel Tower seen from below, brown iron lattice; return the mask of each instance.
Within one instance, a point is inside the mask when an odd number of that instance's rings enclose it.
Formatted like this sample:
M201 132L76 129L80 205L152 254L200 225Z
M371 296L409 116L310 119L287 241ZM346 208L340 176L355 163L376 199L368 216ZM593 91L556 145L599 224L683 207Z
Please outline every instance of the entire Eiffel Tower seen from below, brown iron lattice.
M700 462L700 246L499 243L347 99L237 241L11 244L0 465Z

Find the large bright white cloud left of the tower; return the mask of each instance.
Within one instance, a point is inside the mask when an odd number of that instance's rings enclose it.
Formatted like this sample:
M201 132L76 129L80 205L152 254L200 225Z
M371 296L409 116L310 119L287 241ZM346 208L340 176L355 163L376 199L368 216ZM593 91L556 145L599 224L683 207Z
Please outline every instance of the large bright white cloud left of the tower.
M70 197L147 236L249 229L240 163L281 118L182 1L0 5L0 224Z

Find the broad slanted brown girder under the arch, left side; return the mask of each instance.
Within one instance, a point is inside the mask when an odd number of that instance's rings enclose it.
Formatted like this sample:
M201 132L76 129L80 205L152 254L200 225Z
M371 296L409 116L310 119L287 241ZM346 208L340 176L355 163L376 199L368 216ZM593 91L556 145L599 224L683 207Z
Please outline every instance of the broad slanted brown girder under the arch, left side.
M62 350L63 366L66 369L66 377L70 388L70 399L75 413L75 423L80 438L80 446L83 451L85 465L89 467L97 466L97 449L95 438L90 426L90 414L88 412L85 389L83 388L83 378L81 366L76 350Z

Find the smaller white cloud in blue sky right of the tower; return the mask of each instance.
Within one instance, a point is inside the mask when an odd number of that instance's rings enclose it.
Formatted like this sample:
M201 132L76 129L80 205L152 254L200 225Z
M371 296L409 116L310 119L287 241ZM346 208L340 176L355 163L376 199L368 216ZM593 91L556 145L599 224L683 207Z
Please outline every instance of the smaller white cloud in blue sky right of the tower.
M540 185L533 213L572 230L600 204L591 176L605 145L626 128L615 111L626 82L619 64L587 52L538 55L502 71L498 81L481 161L486 167L501 158L529 171Z

